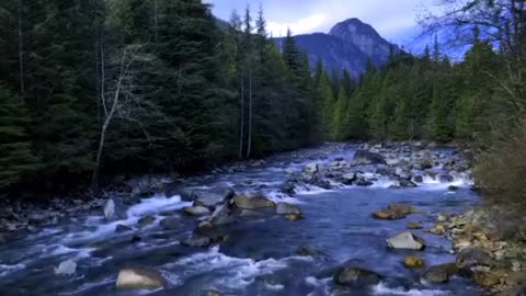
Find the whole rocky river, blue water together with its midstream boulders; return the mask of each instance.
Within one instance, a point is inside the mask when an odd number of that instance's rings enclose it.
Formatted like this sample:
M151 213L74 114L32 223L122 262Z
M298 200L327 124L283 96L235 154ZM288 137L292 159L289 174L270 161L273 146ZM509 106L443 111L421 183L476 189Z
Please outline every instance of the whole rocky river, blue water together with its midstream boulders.
M162 281L153 282L162 288L191 295L482 295L453 274L447 283L426 283L430 270L456 254L447 235L424 230L436 228L443 212L460 215L477 205L470 175L469 161L455 149L396 144L328 145L185 180L137 179L127 191L77 202L69 214L53 209L64 215L57 224L33 219L34 232L14 231L2 247L0 282L11 294L14 286L43 292L36 278L65 285L47 284L48 292L114 294L121 269L139 266L160 273ZM375 219L380 209L393 212L392 219ZM426 249L387 248L386 239L409 225ZM41 243L47 247L34 249ZM404 267L408 255L421 257L426 267ZM78 264L75 281L44 267L68 260ZM358 267L371 276L350 282L346 275Z

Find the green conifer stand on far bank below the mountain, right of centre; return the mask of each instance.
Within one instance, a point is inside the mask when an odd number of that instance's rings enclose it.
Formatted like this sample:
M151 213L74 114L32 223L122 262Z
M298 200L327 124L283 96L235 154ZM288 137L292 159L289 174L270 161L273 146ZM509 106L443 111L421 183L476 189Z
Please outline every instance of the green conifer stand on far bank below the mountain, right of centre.
M494 73L499 59L488 41L477 39L460 62L443 56L438 44L420 57L392 56L382 69L370 66L354 91L344 75L336 92L322 94L325 130L338 140L488 139L495 86L484 73Z

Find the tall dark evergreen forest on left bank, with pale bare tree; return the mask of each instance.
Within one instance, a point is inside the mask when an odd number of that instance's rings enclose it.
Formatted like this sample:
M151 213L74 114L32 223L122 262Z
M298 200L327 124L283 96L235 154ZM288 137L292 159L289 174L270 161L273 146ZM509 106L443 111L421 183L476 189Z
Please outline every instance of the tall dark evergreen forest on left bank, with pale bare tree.
M1 1L0 189L316 143L312 79L261 9L225 25L201 0Z

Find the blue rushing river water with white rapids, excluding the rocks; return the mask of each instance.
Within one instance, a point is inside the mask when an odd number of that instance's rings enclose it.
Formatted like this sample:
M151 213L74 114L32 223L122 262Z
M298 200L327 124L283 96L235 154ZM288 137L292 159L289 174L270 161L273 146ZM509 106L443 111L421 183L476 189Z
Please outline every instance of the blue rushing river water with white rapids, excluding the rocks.
M448 151L450 152L450 151ZM336 157L352 158L353 150L306 150L275 157L261 166L230 173L210 173L192 178L195 186L229 183L237 191L263 190L276 200L277 187L286 171L301 170L312 159L331 161ZM376 271L387 278L366 291L350 295L480 295L469 282L454 277L446 285L421 283L419 274L402 265L403 258L416 253L427 265L455 260L448 253L450 243L442 237L416 230L427 242L423 252L392 251L386 239L405 230L409 221L431 227L438 213L460 212L477 203L464 180L455 180L460 190L448 192L450 185L426 180L416 189L389 189L380 179L371 187L344 187L323 191L306 187L289 203L299 204L306 219L290 223L281 217L262 216L225 228L227 243L208 249L180 244L195 228L195 218L180 209L190 203L180 196L151 196L128 208L125 220L106 223L100 213L85 214L56 228L48 228L0 248L0 295L145 295L118 292L115 281L119 269L146 266L159 270L170 285L152 295L204 295L207 289L224 295L331 295L334 267L344 262ZM422 214L397 221L375 220L370 213L390 203L409 203ZM157 217L157 223L134 235L116 234L117 224L137 227L139 218ZM167 216L180 217L176 230L162 230L158 223ZM324 252L323 258L295 255L299 246ZM64 260L78 263L73 276L55 275L54 269Z

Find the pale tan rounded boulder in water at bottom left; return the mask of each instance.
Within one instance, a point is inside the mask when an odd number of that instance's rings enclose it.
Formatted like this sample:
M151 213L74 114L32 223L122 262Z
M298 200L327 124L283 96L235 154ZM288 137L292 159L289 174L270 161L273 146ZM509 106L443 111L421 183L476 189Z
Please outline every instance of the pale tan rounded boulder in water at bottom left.
M158 271L125 269L118 273L116 286L119 289L159 289L167 286L167 281Z

